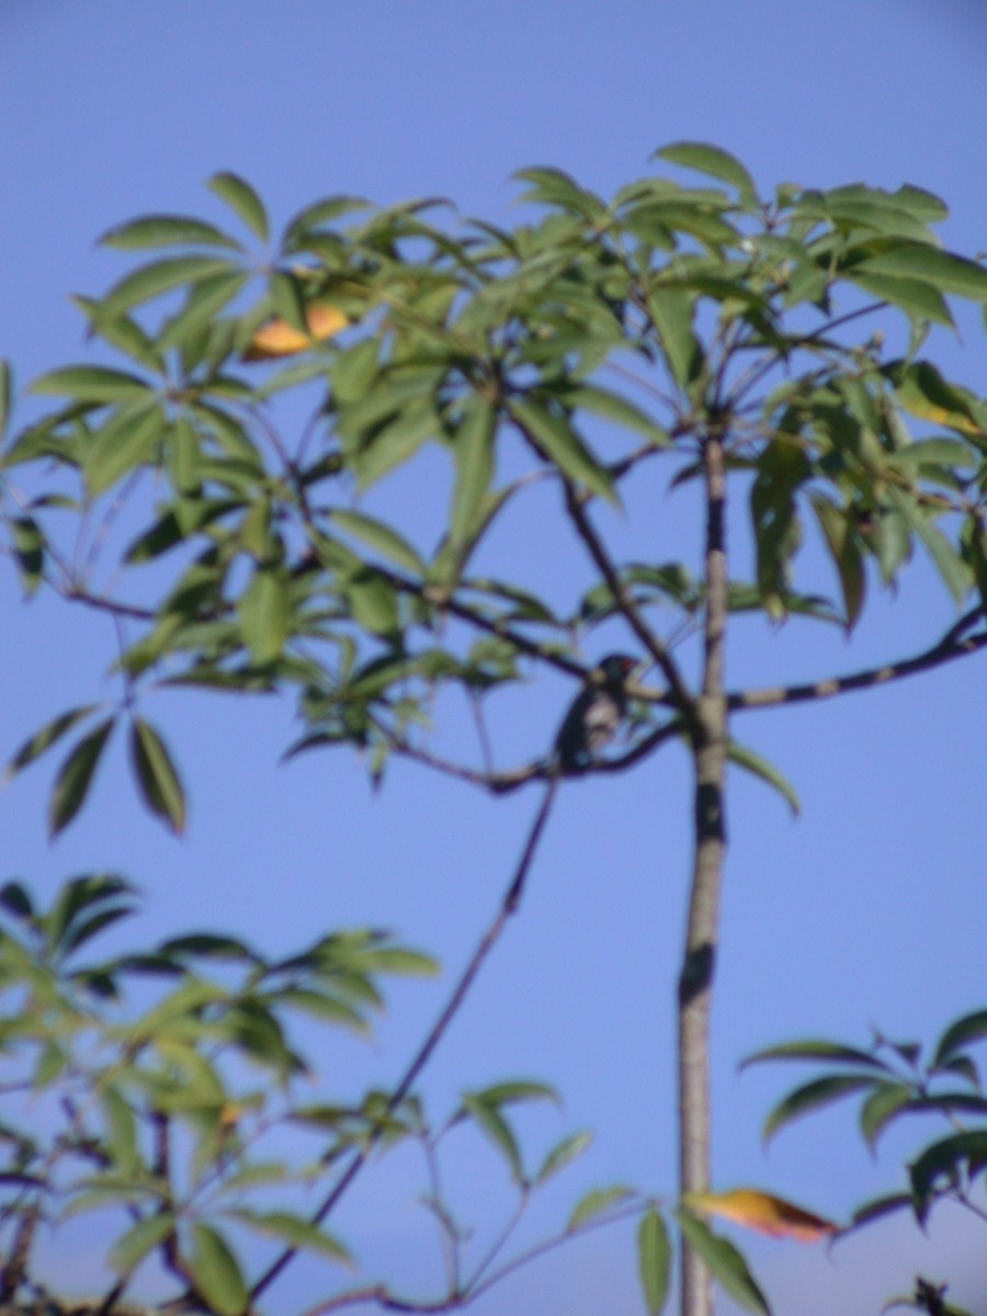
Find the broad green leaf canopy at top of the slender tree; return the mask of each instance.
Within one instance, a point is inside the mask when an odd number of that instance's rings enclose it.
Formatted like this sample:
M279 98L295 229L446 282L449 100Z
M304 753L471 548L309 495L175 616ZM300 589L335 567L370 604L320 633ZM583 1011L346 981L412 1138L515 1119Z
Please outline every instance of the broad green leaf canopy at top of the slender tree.
M76 299L100 363L34 380L59 403L3 449L25 590L126 622L126 699L61 715L12 763L78 737L53 830L121 719L145 801L182 828L176 766L133 713L151 687L291 688L295 747L366 747L379 778L425 744L441 687L475 701L524 658L579 675L583 638L629 604L687 633L703 587L680 545L607 571L588 541L654 463L672 487L695 479L711 432L751 529L732 609L850 628L869 579L895 582L916 549L957 603L987 594L987 409L921 355L950 301L987 301L987 270L938 242L942 203L862 184L765 200L715 147L659 155L708 180L649 176L605 201L532 168L533 217L512 229L336 196L272 241L261 199L222 174L243 238L182 216L105 236L151 254ZM376 515L376 487L436 450L445 515L413 494ZM596 578L569 601L545 596L544 563L474 570L546 482L582 509ZM807 538L829 596L797 588Z

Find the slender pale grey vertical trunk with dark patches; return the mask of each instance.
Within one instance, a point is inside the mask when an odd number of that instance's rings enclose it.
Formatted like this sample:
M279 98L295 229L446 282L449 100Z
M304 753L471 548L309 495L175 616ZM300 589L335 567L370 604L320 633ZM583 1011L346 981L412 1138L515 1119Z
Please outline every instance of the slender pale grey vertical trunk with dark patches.
M679 1191L683 1196L709 1186L709 1005L726 846L726 483L719 432L704 440L703 470L707 504L704 662L699 725L692 746L696 841L679 978ZM711 1316L712 1309L709 1275L683 1245L682 1316Z

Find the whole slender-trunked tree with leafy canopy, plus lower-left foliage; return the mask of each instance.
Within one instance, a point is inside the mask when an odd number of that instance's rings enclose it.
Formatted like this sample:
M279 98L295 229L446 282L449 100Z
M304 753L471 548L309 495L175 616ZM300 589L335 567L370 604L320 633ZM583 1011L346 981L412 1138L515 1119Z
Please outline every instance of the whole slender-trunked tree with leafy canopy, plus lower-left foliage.
M240 1225L283 1245L254 1278L212 1217L197 1215L191 1190L179 1200L166 1146L183 1126L200 1179L234 1196L251 1182L247 1152L258 1130L246 1136L243 1121L257 1094L234 1095L229 1074L207 1059L209 1046L259 1059L287 1082L301 1059L286 1041L286 1011L362 1021L375 975L424 961L333 934L271 963L213 934L66 976L64 961L124 912L126 888L91 878L39 912L22 887L8 887L7 908L25 929L5 942L8 980L42 992L54 1011L42 1032L16 1042L41 1051L24 1082L78 1078L67 1038L86 1026L117 1046L84 1078L89 1104L99 1098L104 1107L101 1130L88 1107L70 1103L67 1132L41 1167L37 1149L11 1136L20 1159L7 1215L8 1298L28 1274L24 1221L39 1215L47 1192L74 1209L91 1207L93 1192L128 1205L130 1223L112 1253L121 1278L107 1311L151 1254L200 1308L243 1309L297 1248L341 1252L322 1223L371 1149L412 1137L432 1157L440 1132L466 1119L501 1150L524 1202L538 1177L521 1167L505 1107L547 1090L474 1094L443 1125L425 1116L415 1084L521 907L559 779L551 755L496 767L487 709L540 669L572 678L576 691L605 682L582 650L596 630L633 646L657 680L626 686L626 744L567 762L566 771L624 772L672 738L692 762L694 863L678 979L680 1173L676 1195L620 1190L583 1200L563 1234L638 1216L645 1295L657 1312L671 1220L682 1238L682 1311L707 1316L711 1277L767 1309L709 1216L788 1234L832 1230L770 1194L716 1194L709 1180L708 1021L726 766L795 804L778 770L734 738L737 721L987 646L987 407L923 355L929 329L953 324L948 297L987 301L987 270L942 250L932 225L945 207L919 188L783 186L762 200L746 170L716 147L679 143L658 155L705 180L649 176L604 201L555 170L525 170L524 200L537 215L511 230L442 225L428 201L379 209L336 196L271 242L261 199L220 174L211 186L246 241L184 216L149 216L105 236L117 249L164 251L105 296L76 299L114 363L34 380L36 395L62 401L4 449L5 524L25 591L43 584L105 612L121 637L118 699L61 715L12 761L20 771L74 737L51 792L53 833L84 804L117 725L145 803L182 829L180 776L143 712L155 690L174 686L292 691L305 733L288 753L355 745L375 783L397 755L494 795L540 783L545 794L504 899L397 1088L351 1108L304 1112L288 1100L280 1112L322 1130L318 1173L330 1167L332 1187L311 1219L236 1208ZM304 424L283 418L292 397L309 407ZM382 482L413 478L416 461L436 449L451 471L446 513L429 528L421 517L380 515ZM640 557L615 546L613 513L655 472L692 487L700 508L695 542L678 545L670 561L655 561L650 544ZM508 509L522 516L546 488L591 572L576 600L546 596L538 563L508 579L496 566L474 567L499 519ZM741 508L749 553L729 547L746 537ZM51 528L55 511L76 524L71 551L64 530ZM141 529L124 536L122 522L134 519ZM799 557L805 541L832 563L828 595L799 584L812 557ZM812 674L790 687L728 686L725 645L740 619L851 632L873 584L894 587L916 551L966 608L946 634L873 670ZM465 696L476 719L479 761L451 761L429 741L445 691ZM79 923L83 911L88 921ZM217 984L203 975L203 959L228 961L241 976ZM93 1000L149 970L171 975L176 990L125 1034L108 1032ZM541 1175L579 1146L576 1138L550 1152ZM55 1162L61 1174L72 1157L88 1157L88 1175L57 1179ZM471 1290L457 1269L457 1225L440 1200L433 1207L453 1259L449 1291L428 1309L447 1309L490 1282L490 1265ZM418 1309L391 1291L358 1296ZM343 1294L320 1309L354 1300Z

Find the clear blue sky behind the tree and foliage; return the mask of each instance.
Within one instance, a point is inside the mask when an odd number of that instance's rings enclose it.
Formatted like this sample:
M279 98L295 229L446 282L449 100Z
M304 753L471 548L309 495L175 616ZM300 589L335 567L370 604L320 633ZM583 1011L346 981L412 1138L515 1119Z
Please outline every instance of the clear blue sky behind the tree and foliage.
M99 292L122 266L93 240L138 213L218 218L204 180L251 179L278 220L329 192L382 203L445 195L509 222L509 174L555 164L608 192L691 138L737 154L759 184L917 183L951 209L955 250L987 249L987 16L941 0L4 0L0 7L0 354L21 383L86 359L68 292ZM983 338L940 337L948 371L984 390ZM24 413L26 415L26 412ZM559 588L571 576L558 563ZM105 692L112 632L0 579L5 644L0 755L57 711ZM730 683L853 670L923 647L953 619L924 569L879 600L851 644L766 628L738 641ZM505 761L549 744L566 695L519 696ZM183 765L188 837L141 811L122 754L83 819L43 837L50 769L0 795L7 874L50 891L68 874L118 869L147 892L150 941L226 926L288 948L313 926L387 924L461 963L499 899L530 796L490 801L399 767L371 797L346 753L278 767L292 734L276 704L200 696L154 709ZM930 1036L983 1004L983 661L871 696L771 712L744 734L795 780L792 822L763 787L736 780L724 950L715 1013L717 1180L758 1183L844 1215L896 1183L907 1142L871 1162L849 1111L783 1133L765 1155L761 1120L783 1071L740 1078L746 1051L784 1037ZM688 861L687 771L671 750L632 778L562 792L524 913L429 1073L437 1104L503 1075L546 1076L563 1115L532 1117L544 1144L570 1128L597 1138L561 1180L546 1220L594 1183L674 1183L672 998ZM393 995L359 1080L399 1071L441 986ZM497 1167L466 1146L462 1191ZM898 1155L898 1159L896 1159ZM426 1228L411 1165L396 1159L341 1216L370 1270L425 1284ZM382 1213L382 1203L387 1213ZM945 1217L926 1242L875 1225L832 1257L749 1245L780 1312L876 1311L916 1269L954 1273L957 1300L983 1302L970 1252L983 1234ZM84 1242L68 1270L83 1277ZM312 1277L308 1277L311 1279ZM308 1282L308 1279L305 1282ZM284 1295L308 1292L304 1283ZM528 1270L483 1313L637 1311L628 1236L601 1236ZM815 1305L813 1305L815 1304Z

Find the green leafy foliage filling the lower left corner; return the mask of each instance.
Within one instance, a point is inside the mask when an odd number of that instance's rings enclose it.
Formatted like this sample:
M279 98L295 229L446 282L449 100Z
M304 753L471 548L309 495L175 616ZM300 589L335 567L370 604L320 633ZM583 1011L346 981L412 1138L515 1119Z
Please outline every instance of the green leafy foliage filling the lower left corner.
M71 1221L92 1215L111 1277L107 1311L134 1282L139 1294L142 1277L163 1273L174 1296L196 1309L238 1316L272 1266L296 1254L321 1258L326 1283L345 1292L354 1258L321 1217L341 1171L372 1150L416 1144L437 1175L446 1142L471 1126L499 1153L520 1215L590 1144L586 1133L570 1134L525 1166L511 1112L558 1103L544 1083L467 1092L432 1124L417 1095L354 1095L342 1069L329 1076L332 1034L370 1036L383 980L434 971L426 955L383 933L325 934L279 959L204 932L99 955L104 933L136 912L133 887L112 874L71 879L47 908L8 882L0 909L4 1304L28 1309L43 1295L51 1309L71 1305L71 1277L49 1290L36 1245L50 1234L61 1241ZM465 1266L470 1229L438 1180L426 1182L422 1205ZM313 1205L320 1198L322 1211ZM632 1190L590 1194L561 1237L641 1211ZM494 1261L470 1262L450 1308L496 1283Z

